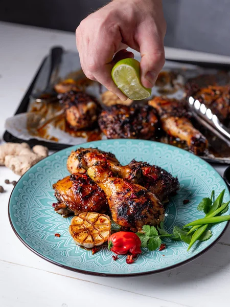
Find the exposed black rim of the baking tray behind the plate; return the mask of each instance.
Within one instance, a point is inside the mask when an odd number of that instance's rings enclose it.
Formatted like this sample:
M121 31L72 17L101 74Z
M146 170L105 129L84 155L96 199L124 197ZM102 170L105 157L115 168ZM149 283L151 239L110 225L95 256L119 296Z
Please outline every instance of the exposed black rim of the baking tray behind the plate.
M47 57L44 57L40 67L38 68L30 86L28 87L28 90L25 94L25 96L22 98L20 105L15 112L14 115L19 114L19 113L25 113L27 112L27 107L29 104L29 97L31 95L31 92L33 90L34 84L36 82L36 79L44 65L45 60ZM202 68L210 68L210 69L217 69L217 70L222 70L222 71L230 71L230 64L227 63L218 63L218 62L203 62L203 61L192 61L192 60L174 60L167 58L168 61L173 61L173 62L178 62L178 63L185 63L185 64L193 64L193 65L198 65L199 67ZM37 139L30 139L30 140L22 140L14 137L12 134L10 134L8 131L5 131L3 135L3 139L6 142L12 142L12 143L28 143L31 147L34 145L43 145L48 147L50 150L61 150L67 147L70 147L72 145L67 145L67 144L60 144L60 143L53 143L53 142L48 142L48 141L39 141ZM205 159L206 160L206 159Z

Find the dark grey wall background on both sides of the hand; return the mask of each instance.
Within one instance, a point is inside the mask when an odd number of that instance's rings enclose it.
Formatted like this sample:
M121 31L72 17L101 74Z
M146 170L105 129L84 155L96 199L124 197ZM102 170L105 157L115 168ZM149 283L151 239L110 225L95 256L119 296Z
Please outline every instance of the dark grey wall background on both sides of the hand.
M105 0L1 0L0 20L75 31ZM230 55L229 0L163 0L165 45Z

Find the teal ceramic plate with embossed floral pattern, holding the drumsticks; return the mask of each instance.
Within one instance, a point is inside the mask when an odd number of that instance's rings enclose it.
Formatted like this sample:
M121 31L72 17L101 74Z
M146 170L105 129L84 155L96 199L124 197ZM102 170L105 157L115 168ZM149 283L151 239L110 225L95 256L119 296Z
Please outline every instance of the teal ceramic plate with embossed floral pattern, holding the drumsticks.
M194 246L190 252L187 252L187 244L165 239L165 250L149 252L144 248L132 265L126 264L126 256L119 256L114 261L106 247L92 255L90 250L75 245L68 232L71 218L63 218L52 207L55 202L52 184L68 175L66 160L71 150L77 147L80 146L61 150L37 163L21 177L11 194L11 225L19 239L42 258L87 274L129 276L156 273L201 255L217 242L226 229L226 222L214 226L213 236ZM169 232L174 225L182 226L202 217L197 205L202 198L210 196L212 190L217 195L225 188L224 201L229 200L228 189L213 167L185 150L142 140L97 141L85 143L82 147L111 151L122 164L128 164L132 159L147 161L177 176L180 189L166 207L165 225ZM183 204L185 199L190 201L186 205ZM56 237L55 233L61 236Z

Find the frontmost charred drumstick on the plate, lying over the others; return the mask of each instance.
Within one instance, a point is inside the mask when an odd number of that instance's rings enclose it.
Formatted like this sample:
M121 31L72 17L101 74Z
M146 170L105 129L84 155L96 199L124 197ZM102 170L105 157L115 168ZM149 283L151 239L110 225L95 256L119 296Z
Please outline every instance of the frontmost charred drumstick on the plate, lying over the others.
M118 178L105 161L89 167L89 177L105 192L112 220L132 231L164 220L164 207L156 196L141 185Z

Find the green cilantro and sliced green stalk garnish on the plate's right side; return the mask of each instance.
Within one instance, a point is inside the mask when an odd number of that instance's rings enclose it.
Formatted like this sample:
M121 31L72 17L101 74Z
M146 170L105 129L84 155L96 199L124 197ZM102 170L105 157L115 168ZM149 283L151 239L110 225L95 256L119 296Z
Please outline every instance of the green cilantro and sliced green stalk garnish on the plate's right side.
M208 228L212 226L212 224L230 220L230 215L218 215L228 211L228 204L230 202L222 203L224 192L225 190L218 195L216 200L214 200L214 191L212 191L210 198L202 199L197 210L203 211L205 216L182 228L174 226L172 234L165 230L163 222L160 223L160 226L157 226L157 228L144 225L142 227L142 232L136 233L141 239L142 247L154 251L162 244L162 238L171 237L172 240L181 240L189 244L189 251L196 242L210 239L212 232Z

